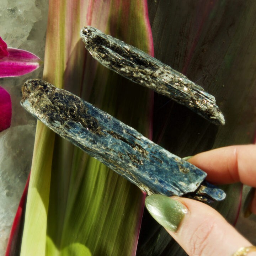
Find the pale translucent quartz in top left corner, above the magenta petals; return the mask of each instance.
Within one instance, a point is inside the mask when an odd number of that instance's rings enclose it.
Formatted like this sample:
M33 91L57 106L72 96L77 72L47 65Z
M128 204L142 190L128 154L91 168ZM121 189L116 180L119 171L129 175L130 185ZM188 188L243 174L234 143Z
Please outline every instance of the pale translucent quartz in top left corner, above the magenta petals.
M11 47L38 53L44 42L48 3L1 0L0 36Z

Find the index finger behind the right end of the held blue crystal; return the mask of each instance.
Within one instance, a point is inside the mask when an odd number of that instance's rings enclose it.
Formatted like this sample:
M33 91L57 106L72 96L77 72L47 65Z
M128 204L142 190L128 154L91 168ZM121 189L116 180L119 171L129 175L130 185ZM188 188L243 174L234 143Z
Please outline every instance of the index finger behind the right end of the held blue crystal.
M192 156L188 160L207 172L207 180L218 184L242 182L256 187L256 145L227 146Z

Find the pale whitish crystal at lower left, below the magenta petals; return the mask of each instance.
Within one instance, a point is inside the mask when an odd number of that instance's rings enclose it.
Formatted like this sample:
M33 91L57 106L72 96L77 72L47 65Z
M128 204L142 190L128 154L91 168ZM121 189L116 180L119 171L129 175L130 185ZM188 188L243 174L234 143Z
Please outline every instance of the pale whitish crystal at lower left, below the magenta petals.
M0 133L0 255L30 172L35 128L27 124Z

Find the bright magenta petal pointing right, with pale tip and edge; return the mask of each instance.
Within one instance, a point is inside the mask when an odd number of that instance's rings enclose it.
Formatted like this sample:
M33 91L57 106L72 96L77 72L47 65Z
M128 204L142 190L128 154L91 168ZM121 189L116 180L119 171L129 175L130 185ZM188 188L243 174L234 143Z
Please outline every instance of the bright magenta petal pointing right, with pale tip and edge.
M41 60L26 50L7 48L9 56L0 59L0 78L21 76L39 68Z

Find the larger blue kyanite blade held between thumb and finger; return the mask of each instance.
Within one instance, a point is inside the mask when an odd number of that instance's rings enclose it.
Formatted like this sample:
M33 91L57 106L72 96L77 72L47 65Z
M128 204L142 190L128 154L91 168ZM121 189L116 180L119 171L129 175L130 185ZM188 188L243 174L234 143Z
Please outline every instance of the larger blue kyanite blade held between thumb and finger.
M78 96L39 79L25 82L22 95L27 111L146 193L225 198L219 188L201 185L205 172Z

